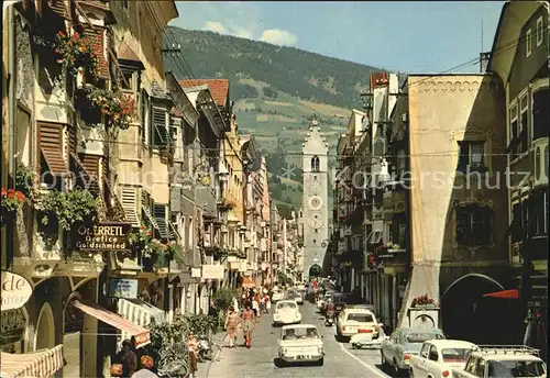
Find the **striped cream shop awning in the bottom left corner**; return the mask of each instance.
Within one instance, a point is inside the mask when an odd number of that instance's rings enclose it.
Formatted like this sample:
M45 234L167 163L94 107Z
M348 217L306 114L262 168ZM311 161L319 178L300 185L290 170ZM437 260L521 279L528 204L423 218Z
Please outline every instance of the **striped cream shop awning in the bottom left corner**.
M1 354L0 377L51 377L63 367L63 345L25 354Z

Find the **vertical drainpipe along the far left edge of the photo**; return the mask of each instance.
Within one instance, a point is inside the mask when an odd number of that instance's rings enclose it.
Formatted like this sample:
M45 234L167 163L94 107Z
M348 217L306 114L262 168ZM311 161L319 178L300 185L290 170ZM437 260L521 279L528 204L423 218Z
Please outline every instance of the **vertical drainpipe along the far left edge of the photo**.
M18 100L15 98L16 86L16 56L15 56L15 10L13 5L20 1L7 1L3 4L8 12L9 38L8 38L8 188L15 188L15 111ZM14 224L7 224L7 268L13 266L13 237Z

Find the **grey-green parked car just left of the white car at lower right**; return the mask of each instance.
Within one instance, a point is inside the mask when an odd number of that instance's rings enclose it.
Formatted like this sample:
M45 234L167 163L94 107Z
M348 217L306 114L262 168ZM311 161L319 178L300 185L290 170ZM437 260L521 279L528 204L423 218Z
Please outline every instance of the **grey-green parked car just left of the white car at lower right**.
M444 340L439 329L397 329L381 346L384 369L393 368L396 375L410 370L410 359L418 355L425 342Z

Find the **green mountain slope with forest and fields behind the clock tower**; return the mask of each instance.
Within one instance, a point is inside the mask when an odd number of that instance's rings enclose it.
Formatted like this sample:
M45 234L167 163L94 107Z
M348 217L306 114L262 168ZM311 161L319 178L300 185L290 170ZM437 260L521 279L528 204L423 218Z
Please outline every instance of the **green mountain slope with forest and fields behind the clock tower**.
M350 110L362 109L360 92L367 88L370 73L380 69L212 32L169 27L168 33L170 42L182 45L185 62L168 57L166 68L178 78L230 79L239 130L252 133L266 155L273 197L285 212L299 208L300 149L309 120L316 114L334 146Z

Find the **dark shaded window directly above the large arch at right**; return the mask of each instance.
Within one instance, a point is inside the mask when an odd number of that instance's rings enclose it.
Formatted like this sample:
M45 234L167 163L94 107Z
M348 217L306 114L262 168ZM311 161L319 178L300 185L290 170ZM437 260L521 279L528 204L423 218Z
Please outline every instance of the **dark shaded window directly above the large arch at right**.
M457 208L457 242L474 246L491 244L492 211L488 207L469 204Z

